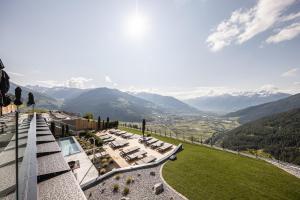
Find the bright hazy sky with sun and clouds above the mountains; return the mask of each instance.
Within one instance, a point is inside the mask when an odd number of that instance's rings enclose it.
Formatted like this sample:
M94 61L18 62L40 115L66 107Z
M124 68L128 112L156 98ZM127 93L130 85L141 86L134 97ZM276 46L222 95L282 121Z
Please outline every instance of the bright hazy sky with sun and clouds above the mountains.
M20 85L297 93L299 52L299 0L0 0L0 58Z

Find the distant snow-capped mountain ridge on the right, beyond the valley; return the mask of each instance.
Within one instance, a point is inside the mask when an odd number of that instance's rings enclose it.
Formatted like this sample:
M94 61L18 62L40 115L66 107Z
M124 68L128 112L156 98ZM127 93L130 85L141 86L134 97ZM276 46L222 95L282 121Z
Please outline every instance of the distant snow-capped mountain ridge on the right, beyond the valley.
M268 91L245 92L238 95L224 94L218 96L204 96L188 99L185 102L203 111L219 114L234 112L249 106L276 101L290 96L286 93L272 93Z

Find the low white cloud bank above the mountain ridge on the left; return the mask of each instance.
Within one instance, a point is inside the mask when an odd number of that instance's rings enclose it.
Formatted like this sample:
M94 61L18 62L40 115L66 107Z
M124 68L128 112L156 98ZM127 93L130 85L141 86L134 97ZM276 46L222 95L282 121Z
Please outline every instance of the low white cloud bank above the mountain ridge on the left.
M46 87L70 87L70 88L86 88L85 84L93 79L85 77L72 77L66 81L43 80L37 81Z

